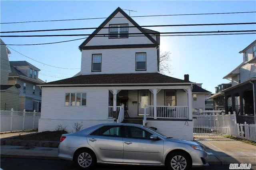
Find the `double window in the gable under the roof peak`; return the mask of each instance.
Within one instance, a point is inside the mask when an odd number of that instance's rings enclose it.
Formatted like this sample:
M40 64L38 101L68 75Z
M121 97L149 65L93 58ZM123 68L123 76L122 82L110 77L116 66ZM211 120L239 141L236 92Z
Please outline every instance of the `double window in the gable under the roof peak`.
M109 25L109 38L128 38L128 24Z

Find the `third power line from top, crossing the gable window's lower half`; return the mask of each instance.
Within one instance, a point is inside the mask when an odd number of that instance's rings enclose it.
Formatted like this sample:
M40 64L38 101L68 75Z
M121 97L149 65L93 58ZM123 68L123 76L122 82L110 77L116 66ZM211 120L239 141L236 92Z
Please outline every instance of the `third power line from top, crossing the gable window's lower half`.
M202 33L231 33L231 32L255 32L256 30L235 30L235 31L198 31L198 32L159 32L158 34L202 34ZM24 36L2 36L0 37L63 37L63 36L109 36L109 35L150 35L152 33L121 33L121 34L59 34L59 35L24 35Z

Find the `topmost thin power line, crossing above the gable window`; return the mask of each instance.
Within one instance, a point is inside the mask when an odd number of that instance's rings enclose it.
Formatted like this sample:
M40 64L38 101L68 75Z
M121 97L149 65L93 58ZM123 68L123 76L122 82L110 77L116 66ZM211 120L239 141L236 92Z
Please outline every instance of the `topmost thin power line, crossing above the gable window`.
M131 16L132 18L138 17L157 17L157 16L194 16L194 15L218 15L218 14L248 14L255 13L256 11L250 12L221 12L221 13L200 13L200 14L167 14L167 15L147 15L147 16ZM22 21L22 22L2 22L0 24L18 24L18 23L30 23L30 22L57 22L57 21L75 21L75 20L96 20L106 19L108 17L101 18L79 18L79 19L66 19L66 20L39 20L39 21ZM125 18L125 16L113 17L113 18Z

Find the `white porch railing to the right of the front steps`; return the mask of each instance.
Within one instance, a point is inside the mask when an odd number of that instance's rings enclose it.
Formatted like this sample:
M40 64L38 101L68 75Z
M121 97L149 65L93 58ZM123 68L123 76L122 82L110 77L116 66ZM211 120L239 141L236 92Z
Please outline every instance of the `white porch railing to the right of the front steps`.
M154 106L144 109L147 118L154 118ZM156 106L156 118L189 119L188 106Z

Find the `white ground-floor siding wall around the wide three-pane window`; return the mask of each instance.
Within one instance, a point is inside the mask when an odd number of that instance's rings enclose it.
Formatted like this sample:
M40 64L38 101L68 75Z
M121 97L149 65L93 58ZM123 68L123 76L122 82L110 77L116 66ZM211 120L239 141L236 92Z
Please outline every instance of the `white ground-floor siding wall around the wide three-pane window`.
M65 106L65 93L86 93L86 106ZM108 119L108 89L43 87L41 113L42 119Z

